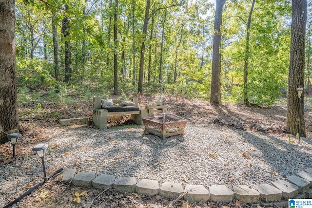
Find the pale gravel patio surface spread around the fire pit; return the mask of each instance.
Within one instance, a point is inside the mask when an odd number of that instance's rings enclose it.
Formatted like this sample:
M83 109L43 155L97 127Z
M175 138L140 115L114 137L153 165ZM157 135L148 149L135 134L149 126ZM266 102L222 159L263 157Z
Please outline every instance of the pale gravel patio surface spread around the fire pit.
M59 168L134 176L186 184L250 185L285 179L312 167L312 146L286 134L245 132L217 124L188 123L185 133L161 140L144 127L99 130L87 126L47 127L47 172ZM291 143L295 140L295 143ZM0 206L43 177L41 160L31 151L2 165ZM25 141L24 141L25 142ZM25 142L26 143L26 142ZM30 142L31 143L31 142ZM8 144L9 145L9 144ZM11 198L12 197L12 198Z

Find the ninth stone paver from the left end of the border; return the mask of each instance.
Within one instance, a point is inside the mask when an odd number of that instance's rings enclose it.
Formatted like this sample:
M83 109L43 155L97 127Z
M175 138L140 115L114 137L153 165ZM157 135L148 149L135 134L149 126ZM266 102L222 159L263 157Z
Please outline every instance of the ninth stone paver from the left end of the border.
M233 189L235 198L242 201L242 203L254 204L260 202L260 193L247 185L233 186Z

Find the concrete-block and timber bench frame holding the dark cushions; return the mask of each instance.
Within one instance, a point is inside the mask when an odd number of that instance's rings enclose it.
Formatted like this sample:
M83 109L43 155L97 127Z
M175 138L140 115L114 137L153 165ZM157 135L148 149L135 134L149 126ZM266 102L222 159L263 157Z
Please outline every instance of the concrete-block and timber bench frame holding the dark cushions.
M113 100L113 104L121 104L123 101L131 101L138 106L138 99L136 97L131 100ZM107 118L109 116L116 115L131 115L131 119L136 122L137 125L142 125L142 118L146 117L146 109L139 109L138 111L118 111L108 112L106 109L102 109L102 103L100 97L93 97L93 123L99 129L107 129Z

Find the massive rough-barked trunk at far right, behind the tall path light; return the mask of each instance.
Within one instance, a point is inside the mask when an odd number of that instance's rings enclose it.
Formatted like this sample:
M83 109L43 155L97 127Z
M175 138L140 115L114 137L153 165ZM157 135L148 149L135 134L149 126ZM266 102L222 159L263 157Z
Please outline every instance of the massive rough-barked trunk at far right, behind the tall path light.
M301 122L301 136L306 136L303 108L304 96L301 95L299 103L297 88L300 86L304 87L306 24L307 1L292 0L292 35L288 73L286 128L292 134L296 134L299 130L299 122ZM302 115L301 121L299 121L300 109Z

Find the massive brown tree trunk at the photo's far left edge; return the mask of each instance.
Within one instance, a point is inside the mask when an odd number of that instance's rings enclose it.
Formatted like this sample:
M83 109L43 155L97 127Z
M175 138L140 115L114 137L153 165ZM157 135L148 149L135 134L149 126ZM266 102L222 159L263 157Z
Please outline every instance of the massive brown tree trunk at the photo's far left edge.
M15 0L0 0L0 143L5 133L17 132L17 86L15 70Z

